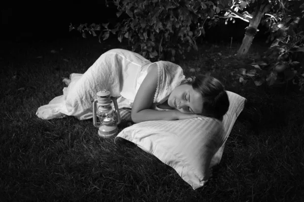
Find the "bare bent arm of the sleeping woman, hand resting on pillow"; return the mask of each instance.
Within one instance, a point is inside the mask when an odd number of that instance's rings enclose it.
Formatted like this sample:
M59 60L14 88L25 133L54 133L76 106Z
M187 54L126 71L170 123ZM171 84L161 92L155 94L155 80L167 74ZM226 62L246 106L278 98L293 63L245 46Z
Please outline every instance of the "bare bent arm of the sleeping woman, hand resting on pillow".
M132 106L131 118L133 122L154 120L178 120L186 118L200 117L200 115L183 114L178 110L157 111L151 108L158 82L158 67L153 64L149 67L144 80L142 81Z

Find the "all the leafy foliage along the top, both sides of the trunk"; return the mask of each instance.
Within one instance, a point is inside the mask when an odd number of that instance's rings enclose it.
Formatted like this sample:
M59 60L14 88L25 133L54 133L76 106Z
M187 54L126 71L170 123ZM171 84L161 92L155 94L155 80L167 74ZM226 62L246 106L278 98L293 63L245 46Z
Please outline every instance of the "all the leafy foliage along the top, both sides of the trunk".
M294 1L255 1L255 0L116 0L111 3L117 9L121 22L112 25L105 23L81 24L77 30L97 36L99 42L116 34L122 42L127 39L132 51L150 60L184 58L185 52L198 49L196 40L205 34L204 25L213 26L220 19L235 23L235 18L250 22L256 8L267 12L262 24L269 28L268 42L272 42L263 61L255 61L251 70L240 70L238 79L246 83L250 78L257 86L264 82L269 85L292 80L303 89L304 77L300 61L294 53L303 52L303 32L297 26L303 13L295 13ZM109 4L107 2L107 4ZM303 8L303 5L300 6ZM71 25L70 30L74 29ZM258 31L258 30L256 30Z

